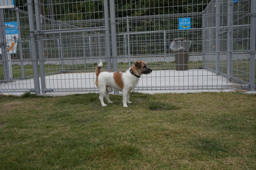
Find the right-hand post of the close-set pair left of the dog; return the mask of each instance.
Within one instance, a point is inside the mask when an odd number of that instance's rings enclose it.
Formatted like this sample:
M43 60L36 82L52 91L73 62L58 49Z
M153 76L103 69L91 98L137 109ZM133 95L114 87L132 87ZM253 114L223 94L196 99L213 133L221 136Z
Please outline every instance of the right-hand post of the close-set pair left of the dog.
M39 1L35 0L35 21L36 21L36 29L38 31L42 30L41 26L41 15L40 15L40 7ZM45 85L45 74L44 74L44 56L43 56L43 40L41 33L38 34L38 57L39 57L39 66L40 66L40 78L41 78L41 92L46 93L46 85Z

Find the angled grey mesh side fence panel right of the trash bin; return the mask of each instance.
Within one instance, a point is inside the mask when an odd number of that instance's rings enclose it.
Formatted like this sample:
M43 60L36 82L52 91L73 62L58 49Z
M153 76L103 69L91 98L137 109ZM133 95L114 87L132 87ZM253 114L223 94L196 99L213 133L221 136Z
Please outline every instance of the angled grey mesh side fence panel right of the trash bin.
M203 13L205 68L244 85L249 83L249 12L249 0L212 0Z

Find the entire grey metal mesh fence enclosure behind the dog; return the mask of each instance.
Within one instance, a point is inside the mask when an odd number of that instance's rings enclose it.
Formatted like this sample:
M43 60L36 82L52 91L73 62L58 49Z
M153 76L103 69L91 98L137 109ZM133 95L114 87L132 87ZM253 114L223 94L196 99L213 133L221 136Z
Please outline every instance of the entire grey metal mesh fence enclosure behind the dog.
M108 0L15 0L17 9L0 9L2 23L17 23L9 37L0 27L0 92L97 91L99 59L102 71L147 62L154 71L134 90L254 90L252 3L116 0L113 10ZM170 49L185 39L187 52Z

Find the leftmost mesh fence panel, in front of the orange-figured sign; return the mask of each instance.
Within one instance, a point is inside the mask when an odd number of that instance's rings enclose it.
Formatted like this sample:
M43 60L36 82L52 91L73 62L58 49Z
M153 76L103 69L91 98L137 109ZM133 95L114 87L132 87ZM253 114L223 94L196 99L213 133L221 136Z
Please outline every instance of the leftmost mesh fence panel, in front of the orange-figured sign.
M26 92L33 90L32 59L30 55L29 24L27 12L19 9L1 9L4 16L5 35L1 42L6 41L7 48L1 46L0 80L1 92ZM10 32L8 29L10 28ZM6 52L8 58L3 58ZM9 63L4 68L5 63ZM4 76L8 72L9 77Z

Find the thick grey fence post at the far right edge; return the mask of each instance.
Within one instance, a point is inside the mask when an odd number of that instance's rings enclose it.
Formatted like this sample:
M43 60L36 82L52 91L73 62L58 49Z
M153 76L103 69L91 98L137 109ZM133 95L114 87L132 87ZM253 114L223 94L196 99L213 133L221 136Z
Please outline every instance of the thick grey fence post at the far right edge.
M250 91L255 87L255 55L256 55L256 0L251 0L250 14Z

